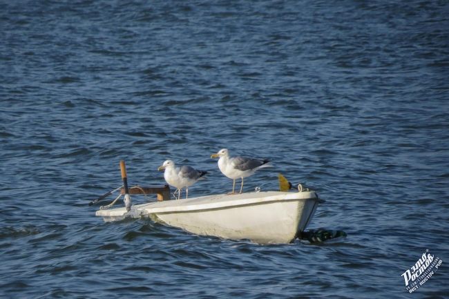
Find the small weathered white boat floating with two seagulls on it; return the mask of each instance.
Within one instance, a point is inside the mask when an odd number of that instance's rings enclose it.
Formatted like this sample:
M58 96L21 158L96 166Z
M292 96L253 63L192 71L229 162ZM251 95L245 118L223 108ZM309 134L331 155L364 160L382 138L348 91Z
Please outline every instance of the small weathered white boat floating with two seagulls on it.
M122 207L96 215L106 222L149 217L198 235L276 244L292 242L304 231L320 202L314 191L266 191L149 202L128 212Z

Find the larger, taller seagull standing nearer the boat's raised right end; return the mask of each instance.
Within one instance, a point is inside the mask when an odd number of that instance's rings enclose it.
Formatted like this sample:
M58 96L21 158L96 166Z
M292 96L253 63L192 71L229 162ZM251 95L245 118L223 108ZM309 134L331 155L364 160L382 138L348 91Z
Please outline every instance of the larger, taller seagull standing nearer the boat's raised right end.
M232 193L236 187L236 179L239 177L242 179L242 185L240 186L240 193L243 189L243 177L249 177L256 172L259 168L270 167L269 160L259 160L249 157L229 157L229 151L226 148L221 149L218 153L211 155L211 158L218 159L218 168L220 171L233 180Z

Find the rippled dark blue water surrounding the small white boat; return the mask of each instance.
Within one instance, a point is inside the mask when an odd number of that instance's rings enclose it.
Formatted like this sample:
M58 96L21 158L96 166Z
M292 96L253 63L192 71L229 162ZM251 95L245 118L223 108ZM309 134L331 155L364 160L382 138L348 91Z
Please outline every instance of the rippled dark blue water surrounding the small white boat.
M448 298L448 1L2 1L1 298ZM163 185L166 159L269 158L326 200L309 229L258 245L88 202ZM113 200L113 197L109 197ZM145 202L145 197L134 197ZM154 197L151 197L154 200ZM410 294L401 274L443 264Z

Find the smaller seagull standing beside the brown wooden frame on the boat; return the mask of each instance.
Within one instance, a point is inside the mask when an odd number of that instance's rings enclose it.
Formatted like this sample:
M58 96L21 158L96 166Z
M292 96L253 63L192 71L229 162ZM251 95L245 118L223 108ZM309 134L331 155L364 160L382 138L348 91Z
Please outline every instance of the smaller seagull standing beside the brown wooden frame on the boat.
M189 195L189 186L195 184L196 181L200 180L200 177L207 174L207 171L197 171L191 166L184 165L181 167L176 167L175 162L171 160L164 161L164 163L159 166L157 170L164 170L165 181L169 185L176 187L176 191L178 191L178 200L181 197L182 188L186 187L187 198Z

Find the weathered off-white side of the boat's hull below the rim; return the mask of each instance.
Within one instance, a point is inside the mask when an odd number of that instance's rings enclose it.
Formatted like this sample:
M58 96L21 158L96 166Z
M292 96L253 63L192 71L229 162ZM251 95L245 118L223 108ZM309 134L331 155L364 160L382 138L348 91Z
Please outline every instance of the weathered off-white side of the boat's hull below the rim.
M304 202L271 202L197 212L159 213L162 222L198 235L249 239L256 243L288 243L296 235Z

